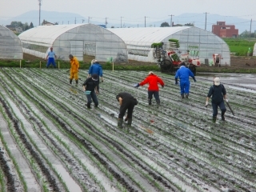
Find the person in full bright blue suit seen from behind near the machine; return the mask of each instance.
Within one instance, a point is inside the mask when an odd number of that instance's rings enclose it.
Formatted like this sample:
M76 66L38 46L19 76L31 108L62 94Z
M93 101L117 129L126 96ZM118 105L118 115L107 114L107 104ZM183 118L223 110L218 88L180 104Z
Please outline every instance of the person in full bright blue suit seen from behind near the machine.
M185 62L182 62L180 68L177 70L175 74L175 85L178 85L178 78L180 80L179 85L181 88L182 98L184 98L184 94L186 98L189 98L190 77L194 79L194 82L197 82L194 78L194 74L191 72L189 68L186 68Z

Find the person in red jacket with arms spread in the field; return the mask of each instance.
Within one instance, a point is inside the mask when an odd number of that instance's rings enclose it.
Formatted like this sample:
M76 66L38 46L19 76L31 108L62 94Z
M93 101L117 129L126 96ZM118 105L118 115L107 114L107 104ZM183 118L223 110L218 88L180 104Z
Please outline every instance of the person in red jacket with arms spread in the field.
M162 86L162 88L165 86L165 83L162 81L161 78L159 78L152 71L150 71L149 75L142 82L138 83L135 87L138 88L139 86L144 86L146 83L149 83L149 85L150 85L148 88L149 105L152 104L151 99L152 99L152 96L154 95L155 101L157 102L157 104L159 106L160 98L159 98L158 83Z

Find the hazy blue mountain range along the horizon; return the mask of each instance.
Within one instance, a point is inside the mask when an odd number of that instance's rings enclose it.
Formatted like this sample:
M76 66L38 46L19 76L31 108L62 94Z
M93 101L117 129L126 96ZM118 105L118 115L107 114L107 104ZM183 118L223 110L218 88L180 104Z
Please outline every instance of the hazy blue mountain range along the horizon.
M207 16L207 17L206 17ZM74 24L74 23L87 23L89 18L84 18L79 14L73 13L62 13L56 11L41 11L41 19L40 22L42 23L43 20L47 22L58 22L59 25L62 24ZM90 22L95 25L104 25L105 21L102 22L95 22L95 19L91 19ZM150 18L147 19L146 26L161 26L162 22L168 22L170 24L170 18L166 18L165 20L161 21L154 21L151 22ZM39 24L39 11L38 10L31 10L26 12L25 14L18 15L14 18L9 18L8 20L1 20L0 25L6 26L10 25L10 22L17 21L25 23L27 22L30 25L30 22L33 23L34 26L38 26ZM180 14L175 15L172 18L174 25L182 24L185 25L186 23L194 23L194 26L197 26L201 29L205 29L205 22L206 22L206 30L211 31L212 25L216 24L217 22L226 22L226 25L234 25L236 29L238 29L239 34L244 32L245 30L250 30L250 20L244 18L237 18L237 17L226 17L218 14ZM112 22L111 20L107 21L107 27L114 26L115 28L120 27L120 22ZM145 24L142 21L141 23L126 23L122 22L122 27L144 27ZM251 31L254 32L255 26L252 26Z

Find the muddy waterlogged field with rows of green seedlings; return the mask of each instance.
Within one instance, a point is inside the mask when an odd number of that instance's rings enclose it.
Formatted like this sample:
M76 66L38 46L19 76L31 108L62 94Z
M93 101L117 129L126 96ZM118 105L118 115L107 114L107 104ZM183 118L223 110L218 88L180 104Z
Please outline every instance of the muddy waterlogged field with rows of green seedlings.
M0 191L256 191L256 93L223 82L226 122L205 107L212 79L196 77L181 99L159 74L161 106L147 103L147 72L104 71L98 108L86 109L66 70L0 70ZM252 88L255 90L255 88ZM138 99L131 127L117 127L118 101ZM153 99L154 101L154 99ZM227 106L226 106L227 107Z

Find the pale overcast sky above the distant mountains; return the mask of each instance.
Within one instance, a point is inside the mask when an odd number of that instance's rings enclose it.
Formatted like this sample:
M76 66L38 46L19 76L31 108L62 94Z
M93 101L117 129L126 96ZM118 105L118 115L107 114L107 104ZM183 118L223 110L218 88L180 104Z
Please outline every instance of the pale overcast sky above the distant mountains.
M185 13L220 14L256 21L256 0L42 0L42 10L80 14L112 22L154 22ZM0 0L0 18L13 18L39 10L38 0ZM58 18L56 18L58 20ZM188 18L187 22L193 22Z

